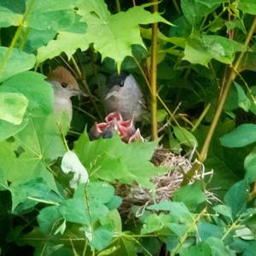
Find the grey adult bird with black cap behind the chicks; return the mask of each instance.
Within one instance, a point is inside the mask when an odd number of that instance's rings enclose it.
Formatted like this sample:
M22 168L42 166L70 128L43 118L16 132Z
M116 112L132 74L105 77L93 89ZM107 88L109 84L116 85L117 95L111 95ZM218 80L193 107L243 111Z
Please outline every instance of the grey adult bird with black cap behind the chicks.
M119 111L125 120L141 119L144 105L143 93L131 74L113 74L108 79L107 92L104 99L107 113Z

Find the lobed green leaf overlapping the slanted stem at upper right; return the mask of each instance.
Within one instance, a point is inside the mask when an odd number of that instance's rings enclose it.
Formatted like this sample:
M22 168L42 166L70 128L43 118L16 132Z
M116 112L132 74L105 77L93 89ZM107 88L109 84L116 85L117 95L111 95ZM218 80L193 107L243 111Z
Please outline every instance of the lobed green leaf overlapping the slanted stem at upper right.
M208 66L212 59L231 64L237 51L244 51L243 44L217 35L190 36L184 49L183 60Z

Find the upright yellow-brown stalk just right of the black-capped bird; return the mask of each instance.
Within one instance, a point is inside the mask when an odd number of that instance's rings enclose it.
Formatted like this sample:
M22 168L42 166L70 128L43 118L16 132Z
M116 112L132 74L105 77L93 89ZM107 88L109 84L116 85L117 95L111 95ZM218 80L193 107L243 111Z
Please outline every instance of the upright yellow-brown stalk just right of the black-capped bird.
M158 0L152 0L153 12L158 11ZM151 121L152 121L152 137L153 140L158 139L157 130L157 31L158 23L152 25L152 38L151 38L151 70L150 70L150 87L151 87Z

